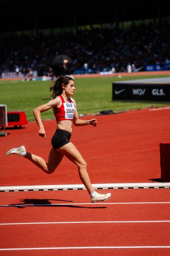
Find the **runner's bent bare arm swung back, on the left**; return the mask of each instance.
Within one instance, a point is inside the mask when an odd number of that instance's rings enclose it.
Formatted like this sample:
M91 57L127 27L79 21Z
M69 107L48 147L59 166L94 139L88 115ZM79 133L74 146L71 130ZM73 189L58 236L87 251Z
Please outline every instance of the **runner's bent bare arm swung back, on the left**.
M45 112L45 111L48 111L49 109L53 108L54 106L58 106L59 105L59 99L60 98L58 98L58 97L56 99L52 99L48 103L40 105L39 107L37 107L33 110L35 121L37 122L37 125L40 128L39 129L39 136L40 137L44 137L44 138L46 137L44 125L42 124L42 120L41 120L41 113Z

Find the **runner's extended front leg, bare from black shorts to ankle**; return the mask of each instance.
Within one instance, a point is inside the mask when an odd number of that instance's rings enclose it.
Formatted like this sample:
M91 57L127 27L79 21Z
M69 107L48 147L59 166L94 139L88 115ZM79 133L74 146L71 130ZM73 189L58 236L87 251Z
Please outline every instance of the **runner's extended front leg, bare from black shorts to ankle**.
M88 190L89 194L93 192L94 188L92 187L90 178L88 176L87 164L75 145L70 142L61 148L58 148L57 151L64 154L69 160L78 166L79 177L82 183L85 185L85 188Z

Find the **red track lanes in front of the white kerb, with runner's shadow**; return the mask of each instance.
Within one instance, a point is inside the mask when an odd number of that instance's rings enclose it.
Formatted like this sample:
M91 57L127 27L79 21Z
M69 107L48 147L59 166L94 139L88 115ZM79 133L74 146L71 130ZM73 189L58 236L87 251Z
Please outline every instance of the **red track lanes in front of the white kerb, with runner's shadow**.
M0 193L0 255L170 255L170 189L110 192L102 204L85 190Z

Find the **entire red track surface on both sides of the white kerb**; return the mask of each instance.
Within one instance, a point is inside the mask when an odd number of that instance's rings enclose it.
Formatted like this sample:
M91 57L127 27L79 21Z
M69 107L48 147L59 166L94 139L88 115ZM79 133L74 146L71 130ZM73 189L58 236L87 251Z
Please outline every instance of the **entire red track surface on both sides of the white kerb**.
M71 141L87 161L92 183L156 182L159 143L170 138L169 117L170 109L145 109L97 116L96 128L74 127ZM38 137L35 122L0 138L0 186L80 183L76 166L66 158L54 174L46 175L22 157L5 156L10 148L24 144L46 159L55 121L44 124L46 140ZM170 255L170 190L109 192L112 197L105 204L89 204L85 190L0 193L0 249L13 249L0 250L0 255Z

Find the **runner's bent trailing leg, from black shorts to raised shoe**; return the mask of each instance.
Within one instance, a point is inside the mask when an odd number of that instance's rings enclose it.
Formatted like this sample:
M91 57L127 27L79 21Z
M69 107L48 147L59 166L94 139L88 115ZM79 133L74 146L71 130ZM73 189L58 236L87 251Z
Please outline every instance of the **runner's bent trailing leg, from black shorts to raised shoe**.
M55 171L63 156L64 155L61 152L56 151L54 148L51 148L50 154L48 156L48 163L46 163L42 157L31 154L29 152L26 152L26 156L24 156L24 158L30 160L36 166L41 168L44 172L51 174Z

